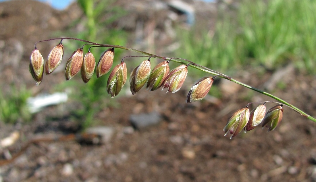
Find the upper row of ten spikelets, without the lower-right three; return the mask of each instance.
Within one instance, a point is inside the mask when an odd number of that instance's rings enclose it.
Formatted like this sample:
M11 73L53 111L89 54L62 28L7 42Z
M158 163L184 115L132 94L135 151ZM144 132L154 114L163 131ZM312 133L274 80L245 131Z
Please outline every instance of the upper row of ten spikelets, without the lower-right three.
M45 72L47 75L58 68L63 57L64 46L60 41L48 55L45 63ZM71 54L66 62L65 78L66 80L70 80L81 71L81 78L83 82L87 83L93 76L94 71L96 72L97 78L106 75L111 70L113 60L114 48L105 50L101 54L98 64L96 64L94 55L90 52L90 49L84 56L83 47L79 48ZM151 71L149 58L132 70L130 75L131 93L136 94L146 83L147 90L154 91L162 87L162 89L166 88L167 92L175 93L182 87L185 81L188 73L187 67L188 65L181 64L169 72L169 61L162 61ZM39 85L43 79L44 59L36 47L31 54L29 70L37 82L37 85ZM106 85L108 94L112 97L118 95L126 79L127 68L125 62L122 61L116 65L110 73ZM190 90L188 94L189 100L187 102L201 100L205 97L214 79L210 77L204 80L196 83L197 89ZM206 89L203 87L204 82L207 82Z

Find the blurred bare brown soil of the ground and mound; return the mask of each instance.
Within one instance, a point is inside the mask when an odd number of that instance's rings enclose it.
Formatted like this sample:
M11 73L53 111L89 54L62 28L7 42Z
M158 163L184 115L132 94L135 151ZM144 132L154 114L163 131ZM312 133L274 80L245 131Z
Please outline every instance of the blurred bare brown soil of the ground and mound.
M50 38L53 31L67 28L71 21L82 16L76 5L70 9L57 11L30 0L0 3L1 52L13 60L15 50L19 49L21 59L16 64L0 59L3 89L8 89L5 85L12 82L25 83L36 94L64 82L64 74L57 72L44 76L41 85L35 87L28 61L36 41ZM9 45L12 53L4 51ZM20 48L15 47L19 45ZM41 47L43 56L54 45ZM234 77L262 88L272 74L258 72L246 69ZM286 77L289 79L283 82L283 87L271 92L316 116L315 76L293 71ZM221 82L220 88L226 86L225 90L233 93L225 94L222 90L220 100L209 97L186 104L192 82L188 79L175 94L141 90L133 96L121 96L116 99L119 107L104 108L97 115L96 120L102 121L98 125L110 127L114 132L105 143L72 140L31 144L15 161L0 167L0 176L8 182L316 181L315 123L284 107L283 121L275 131L257 128L230 140L222 130L230 115L249 101L271 99ZM33 138L76 133L76 123L61 114L71 107L69 103L48 107L35 114L29 124L1 124L0 136L20 131L21 140L9 148L14 154ZM131 127L131 114L153 111L162 116L159 124L142 130Z

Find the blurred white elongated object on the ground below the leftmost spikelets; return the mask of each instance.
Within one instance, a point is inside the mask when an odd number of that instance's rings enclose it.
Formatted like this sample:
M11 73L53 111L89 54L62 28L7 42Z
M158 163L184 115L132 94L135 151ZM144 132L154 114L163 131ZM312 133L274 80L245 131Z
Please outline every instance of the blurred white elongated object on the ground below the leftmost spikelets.
M31 113L39 112L43 107L57 105L68 100L65 92L56 92L54 94L40 95L27 99L27 105Z

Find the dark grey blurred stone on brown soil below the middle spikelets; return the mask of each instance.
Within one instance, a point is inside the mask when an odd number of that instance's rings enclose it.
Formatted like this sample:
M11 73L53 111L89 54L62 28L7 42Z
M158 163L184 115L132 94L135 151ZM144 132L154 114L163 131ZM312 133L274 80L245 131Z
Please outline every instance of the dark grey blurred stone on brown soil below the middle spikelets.
M160 121L161 115L158 112L131 114L130 116L130 122L132 126L137 130L156 125Z

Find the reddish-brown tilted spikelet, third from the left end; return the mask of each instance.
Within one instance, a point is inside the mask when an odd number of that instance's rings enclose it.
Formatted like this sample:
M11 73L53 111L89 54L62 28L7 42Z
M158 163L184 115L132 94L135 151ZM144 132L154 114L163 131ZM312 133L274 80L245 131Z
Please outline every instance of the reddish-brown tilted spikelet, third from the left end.
M66 63L65 76L66 80L70 80L74 77L81 69L83 62L83 52L82 49L77 49L72 53L70 58Z

